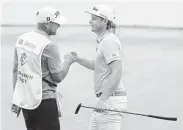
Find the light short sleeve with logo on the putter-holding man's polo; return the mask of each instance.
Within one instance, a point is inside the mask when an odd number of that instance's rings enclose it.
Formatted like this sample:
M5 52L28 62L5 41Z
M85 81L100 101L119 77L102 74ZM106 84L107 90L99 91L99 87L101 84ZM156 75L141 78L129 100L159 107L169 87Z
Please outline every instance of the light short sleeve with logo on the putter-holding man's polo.
M120 45L115 43L111 38L104 39L102 44L103 55L107 64L115 60L121 60Z

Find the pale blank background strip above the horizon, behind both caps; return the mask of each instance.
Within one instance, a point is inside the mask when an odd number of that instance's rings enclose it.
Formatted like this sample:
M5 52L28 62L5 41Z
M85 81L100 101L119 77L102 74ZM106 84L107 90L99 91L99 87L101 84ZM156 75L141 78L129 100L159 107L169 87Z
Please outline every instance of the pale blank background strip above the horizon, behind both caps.
M52 6L66 16L68 25L88 25L84 10L95 4L108 4L116 13L116 24L126 26L183 27L183 3L180 2L120 2L106 0L73 0L45 2L4 2L2 24L34 25L35 12L43 6Z

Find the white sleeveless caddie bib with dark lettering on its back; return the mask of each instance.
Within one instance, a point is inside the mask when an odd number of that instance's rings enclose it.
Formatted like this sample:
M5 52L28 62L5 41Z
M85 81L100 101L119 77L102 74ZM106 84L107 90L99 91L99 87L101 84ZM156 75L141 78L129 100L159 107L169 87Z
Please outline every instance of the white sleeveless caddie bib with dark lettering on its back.
M51 42L49 37L34 31L18 37L15 46L18 55L18 72L13 104L25 109L35 109L41 103L41 55Z

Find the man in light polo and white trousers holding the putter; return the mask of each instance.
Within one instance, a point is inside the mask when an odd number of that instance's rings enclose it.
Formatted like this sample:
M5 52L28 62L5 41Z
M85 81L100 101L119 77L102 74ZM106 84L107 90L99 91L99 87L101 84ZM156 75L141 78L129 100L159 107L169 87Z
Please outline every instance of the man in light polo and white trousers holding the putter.
M127 93L122 75L122 46L115 35L115 13L107 5L96 5L91 14L91 31L97 34L95 60L81 58L76 52L76 62L94 70L94 91L96 108L91 117L90 130L120 130L123 115L103 109L125 111ZM73 59L73 57L70 57Z

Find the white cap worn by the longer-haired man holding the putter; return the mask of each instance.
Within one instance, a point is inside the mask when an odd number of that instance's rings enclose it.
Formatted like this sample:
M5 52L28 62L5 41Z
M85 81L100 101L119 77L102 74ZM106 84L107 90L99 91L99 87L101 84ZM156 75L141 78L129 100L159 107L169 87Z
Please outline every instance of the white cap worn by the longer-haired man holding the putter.
M114 13L113 9L111 9L107 5L96 5L93 7L92 10L86 10L85 12L96 15L96 16L100 16L100 17L107 19L109 21L112 21L112 22L115 19L115 13Z

